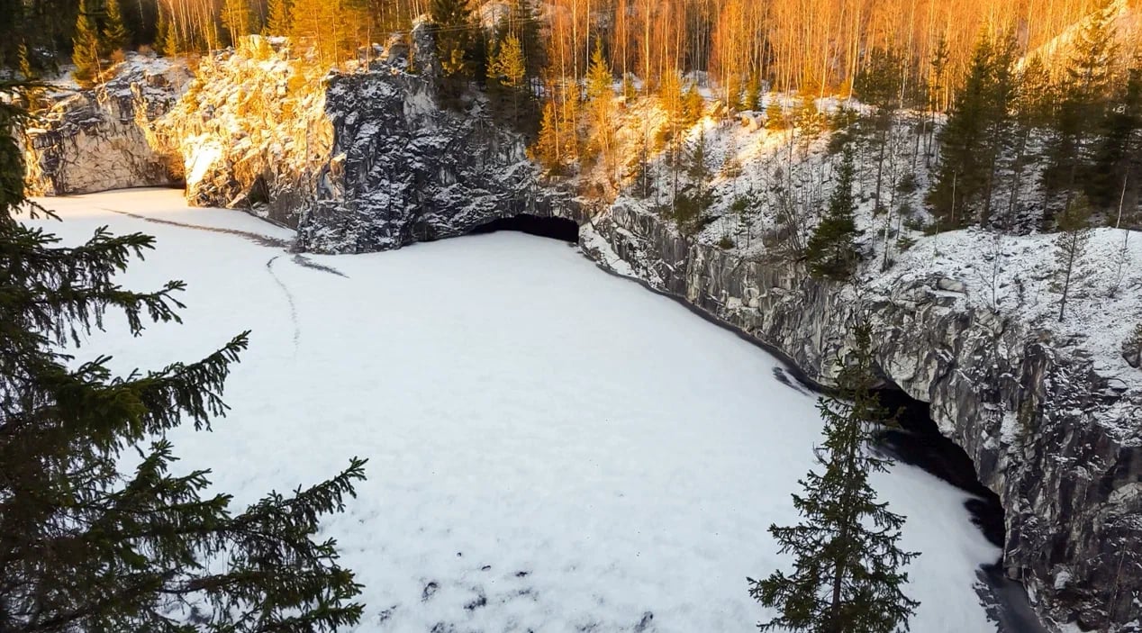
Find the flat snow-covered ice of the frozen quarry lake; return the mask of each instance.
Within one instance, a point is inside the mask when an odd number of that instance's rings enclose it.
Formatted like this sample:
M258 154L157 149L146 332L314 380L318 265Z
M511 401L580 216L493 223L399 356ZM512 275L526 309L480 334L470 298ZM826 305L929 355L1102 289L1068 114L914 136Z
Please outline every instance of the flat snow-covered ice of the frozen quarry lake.
M171 434L180 467L214 468L246 504L369 458L325 528L365 586L359 631L748 632L772 615L746 577L789 562L766 528L797 520L789 494L821 422L733 334L542 238L309 257L339 277L169 224L290 238L177 191L41 202L65 243L100 225L156 235L124 286L188 285L182 326L131 338L112 319L81 358L159 368L254 330L231 415ZM912 631L994 631L973 585L999 551L966 495L903 465L875 484L922 552Z

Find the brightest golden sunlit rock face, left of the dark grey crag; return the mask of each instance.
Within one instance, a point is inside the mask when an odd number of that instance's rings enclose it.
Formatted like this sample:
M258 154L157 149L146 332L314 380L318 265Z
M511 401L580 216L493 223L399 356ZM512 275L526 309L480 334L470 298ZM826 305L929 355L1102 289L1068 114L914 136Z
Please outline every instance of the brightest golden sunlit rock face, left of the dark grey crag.
M203 58L178 104L158 125L183 158L186 199L206 207L243 207L296 225L312 199L316 169L328 160L321 71L283 42L258 35Z

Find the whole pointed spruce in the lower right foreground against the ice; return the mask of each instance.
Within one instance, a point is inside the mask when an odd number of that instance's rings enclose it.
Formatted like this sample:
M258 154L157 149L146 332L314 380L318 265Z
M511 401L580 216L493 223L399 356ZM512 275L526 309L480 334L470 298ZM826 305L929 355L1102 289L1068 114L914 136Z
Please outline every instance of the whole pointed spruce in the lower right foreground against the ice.
M872 391L871 335L855 330L854 359L841 372L837 396L822 396L823 473L810 471L793 495L802 522L770 526L781 553L794 556L793 572L774 571L749 579L749 594L778 611L762 631L811 633L894 633L908 631L919 606L903 594L908 574L901 568L917 554L900 548L904 518L877 503L869 474L887 470L888 460L864 450L876 425L891 422Z

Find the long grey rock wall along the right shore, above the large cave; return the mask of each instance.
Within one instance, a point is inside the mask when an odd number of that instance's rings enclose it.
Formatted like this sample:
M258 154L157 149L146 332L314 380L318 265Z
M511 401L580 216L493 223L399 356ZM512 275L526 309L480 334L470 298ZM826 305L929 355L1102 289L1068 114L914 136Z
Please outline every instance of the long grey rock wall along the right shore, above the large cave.
M1086 631L1142 631L1142 394L1063 355L1049 332L963 301L933 277L893 287L820 282L788 262L746 261L617 205L585 250L684 298L829 385L859 319L884 376L930 402L1006 510L1004 567L1040 614Z

